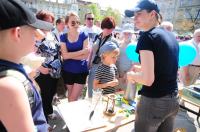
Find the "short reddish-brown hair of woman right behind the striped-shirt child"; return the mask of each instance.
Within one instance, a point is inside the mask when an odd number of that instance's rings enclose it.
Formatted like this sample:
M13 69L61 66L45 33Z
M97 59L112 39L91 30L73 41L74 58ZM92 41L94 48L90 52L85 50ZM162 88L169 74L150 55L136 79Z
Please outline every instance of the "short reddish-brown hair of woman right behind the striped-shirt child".
M105 17L101 22L101 29L107 28L112 29L115 28L116 22L115 19L111 16Z

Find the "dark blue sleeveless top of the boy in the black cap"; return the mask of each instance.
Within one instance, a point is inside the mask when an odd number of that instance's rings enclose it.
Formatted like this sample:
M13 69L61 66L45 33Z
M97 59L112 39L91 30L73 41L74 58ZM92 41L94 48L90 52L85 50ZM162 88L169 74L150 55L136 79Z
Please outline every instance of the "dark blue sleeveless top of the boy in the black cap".
M34 94L33 102L29 102L29 103L33 104L31 106L31 112L32 112L34 124L37 128L37 132L47 132L48 125L47 125L47 122L46 122L46 119L44 116L44 112L43 112L42 99L40 97L40 94L34 87L33 82L31 81L31 79L29 79L28 75L26 74L25 70L23 69L23 66L13 63L13 62L0 60L0 71L7 70L7 69L14 69L14 70L19 71L29 80L29 83L32 87L32 92ZM1 122L0 122L0 126L1 126Z

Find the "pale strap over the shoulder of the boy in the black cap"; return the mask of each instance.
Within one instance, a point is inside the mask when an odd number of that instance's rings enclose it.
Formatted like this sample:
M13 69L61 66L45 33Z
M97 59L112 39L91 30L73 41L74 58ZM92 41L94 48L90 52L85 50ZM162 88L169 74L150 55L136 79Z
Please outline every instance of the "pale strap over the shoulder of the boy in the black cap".
M29 104L32 108L34 104L34 93L32 91L31 82L24 76L24 74L22 74L21 72L17 70L7 69L7 70L0 71L0 78L8 77L8 76L16 78L20 83L23 84L28 96Z

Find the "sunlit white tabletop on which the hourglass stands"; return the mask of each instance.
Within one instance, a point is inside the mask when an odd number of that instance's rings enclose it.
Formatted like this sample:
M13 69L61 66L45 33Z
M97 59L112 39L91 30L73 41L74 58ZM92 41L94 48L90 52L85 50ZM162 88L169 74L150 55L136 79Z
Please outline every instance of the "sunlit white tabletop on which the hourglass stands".
M119 107L115 107L116 114L114 116L104 115L102 102L97 105L92 119L89 120L94 106L87 99L70 103L67 100L61 100L57 107L70 132L111 131L135 120L134 114L126 117L124 112L119 112L121 109Z

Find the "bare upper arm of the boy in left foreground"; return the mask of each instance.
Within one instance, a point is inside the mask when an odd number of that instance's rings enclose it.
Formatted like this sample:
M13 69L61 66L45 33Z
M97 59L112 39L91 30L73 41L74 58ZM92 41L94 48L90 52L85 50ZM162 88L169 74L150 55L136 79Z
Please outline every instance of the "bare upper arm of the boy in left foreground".
M15 78L0 79L0 120L9 132L34 132L24 86Z

